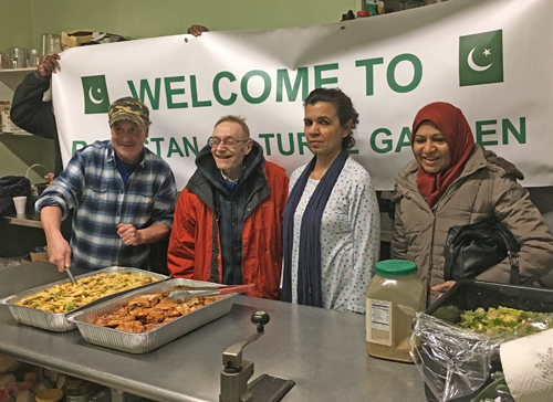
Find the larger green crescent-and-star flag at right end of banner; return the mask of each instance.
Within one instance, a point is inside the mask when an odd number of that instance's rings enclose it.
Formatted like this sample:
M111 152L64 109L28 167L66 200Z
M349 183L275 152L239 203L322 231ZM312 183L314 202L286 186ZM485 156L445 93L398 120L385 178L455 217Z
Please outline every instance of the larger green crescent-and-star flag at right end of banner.
M502 30L459 38L459 85L503 82Z

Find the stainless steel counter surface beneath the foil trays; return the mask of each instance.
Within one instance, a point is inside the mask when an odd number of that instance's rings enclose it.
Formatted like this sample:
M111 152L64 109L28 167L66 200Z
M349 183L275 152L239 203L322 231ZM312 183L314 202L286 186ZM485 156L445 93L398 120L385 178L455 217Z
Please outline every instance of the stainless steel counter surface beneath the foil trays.
M8 267L0 271L0 297L64 275L42 262ZM247 296L238 296L227 316L145 355L90 345L77 330L17 324L0 306L0 352L156 401L216 402L222 352L254 332L250 316L259 309L271 321L243 358L255 364L252 379L268 373L295 381L284 402L426 402L413 364L368 357L365 316Z

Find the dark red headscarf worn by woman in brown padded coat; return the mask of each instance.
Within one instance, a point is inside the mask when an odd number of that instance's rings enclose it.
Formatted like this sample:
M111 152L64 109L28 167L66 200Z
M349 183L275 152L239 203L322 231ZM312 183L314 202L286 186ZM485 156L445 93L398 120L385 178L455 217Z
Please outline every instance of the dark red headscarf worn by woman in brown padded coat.
M435 102L417 113L413 121L411 147L418 126L425 120L430 120L438 127L451 152L451 163L439 173L427 173L422 167L418 168L417 187L431 208L461 174L472 152L474 137L460 109L445 102Z

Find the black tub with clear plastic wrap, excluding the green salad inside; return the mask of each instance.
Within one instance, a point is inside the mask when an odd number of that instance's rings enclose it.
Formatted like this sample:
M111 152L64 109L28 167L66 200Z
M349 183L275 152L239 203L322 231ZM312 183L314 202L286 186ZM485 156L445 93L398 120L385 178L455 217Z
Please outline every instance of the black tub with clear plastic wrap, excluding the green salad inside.
M458 281L424 314L419 314L413 334L411 345L418 348L414 350L413 358L425 380L427 399L432 402L469 402L491 382L490 372L503 369L499 347L513 337L502 334L502 338L493 338L456 327L463 311L477 310L480 307L489 310L503 306L523 311L545 313L542 320L536 320L535 314L531 317L535 328L544 329L543 324L551 322L553 315L552 296L553 292L549 289ZM528 335L528 327L519 331L509 318L499 321L498 318L501 317L487 317L488 322L482 321L486 325L483 329L493 327L502 332L514 330L515 335ZM532 331L535 328L532 328Z

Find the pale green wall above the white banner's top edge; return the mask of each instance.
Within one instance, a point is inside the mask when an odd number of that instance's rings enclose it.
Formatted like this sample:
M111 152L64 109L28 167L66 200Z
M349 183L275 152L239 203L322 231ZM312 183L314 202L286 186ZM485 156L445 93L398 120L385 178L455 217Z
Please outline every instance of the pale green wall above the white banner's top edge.
M42 33L93 29L144 39L210 30L261 30L340 21L361 0L2 0L0 52L41 46Z

